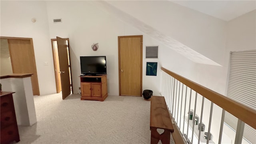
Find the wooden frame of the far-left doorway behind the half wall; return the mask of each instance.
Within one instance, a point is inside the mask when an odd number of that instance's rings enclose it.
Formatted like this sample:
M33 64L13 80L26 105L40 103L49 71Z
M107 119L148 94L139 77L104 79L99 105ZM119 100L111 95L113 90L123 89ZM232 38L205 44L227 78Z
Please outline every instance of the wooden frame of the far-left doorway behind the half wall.
M34 51L34 44L33 44L33 39L32 38L20 38L20 37L8 37L8 36L0 36L0 39L7 39L7 40L29 40L30 41L30 46L33 50L34 53L34 60L35 60L35 64L36 64L36 57L35 57L35 51ZM8 45L9 48L9 45ZM9 48L10 51L10 48ZM12 55L10 54L10 57L12 57ZM12 58L11 58L11 64L12 64L12 71L13 71L13 63L12 63ZM39 87L39 83L38 83L38 74L37 74L37 68L36 68L36 79L37 79L37 86L38 86L38 96L40 96L40 87ZM33 92L34 93L34 92Z

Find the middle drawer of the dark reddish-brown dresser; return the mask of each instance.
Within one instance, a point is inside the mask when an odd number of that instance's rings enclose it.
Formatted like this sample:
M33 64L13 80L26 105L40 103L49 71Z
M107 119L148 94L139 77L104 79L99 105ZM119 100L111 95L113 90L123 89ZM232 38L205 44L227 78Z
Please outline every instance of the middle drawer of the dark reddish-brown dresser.
M16 119L14 116L14 112L7 111L7 112L1 113L0 121L1 121L1 130L7 126L10 126L11 124L15 124Z

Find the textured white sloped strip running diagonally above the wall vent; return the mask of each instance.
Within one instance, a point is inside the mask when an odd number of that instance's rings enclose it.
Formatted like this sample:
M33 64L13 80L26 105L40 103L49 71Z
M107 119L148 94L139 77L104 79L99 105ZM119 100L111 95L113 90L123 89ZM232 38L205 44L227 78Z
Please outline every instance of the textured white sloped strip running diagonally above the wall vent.
M138 30L144 32L145 34L148 34L150 37L158 40L162 44L165 44L167 47L171 48L172 50L178 52L185 58L188 58L195 63L220 66L220 64L214 62L213 60L210 60L206 56L196 52L195 50L189 48L188 46L182 44L181 42L178 42L177 40L171 38L170 36L162 34L155 28L152 28L148 24L145 24L144 22L134 18L133 16L130 16L129 14L123 12L122 10L119 10L118 8L112 6L111 4L108 4L107 2L97 1L97 7L100 7L101 10L108 12L112 16L116 16L118 19L124 21L125 23L130 24L135 28L138 28Z

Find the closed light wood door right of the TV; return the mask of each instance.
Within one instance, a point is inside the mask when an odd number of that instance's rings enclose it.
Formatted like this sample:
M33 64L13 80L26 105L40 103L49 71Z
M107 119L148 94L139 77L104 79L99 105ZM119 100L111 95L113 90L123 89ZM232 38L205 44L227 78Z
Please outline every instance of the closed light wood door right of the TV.
M143 36L118 36L119 95L142 95Z

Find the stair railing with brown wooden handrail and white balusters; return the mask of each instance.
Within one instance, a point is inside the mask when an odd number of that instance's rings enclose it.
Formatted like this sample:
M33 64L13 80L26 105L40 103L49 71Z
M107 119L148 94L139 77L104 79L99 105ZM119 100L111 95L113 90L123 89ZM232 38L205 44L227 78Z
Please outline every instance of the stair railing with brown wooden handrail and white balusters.
M172 110L172 112L170 112L170 117L172 118L172 124L173 124L173 128L174 128L174 132L172 133L172 136L173 136L176 144L186 143L186 142L193 143L193 136L194 136L194 134L192 134L191 142L190 142L190 140L188 140L188 138L186 138L187 140L185 140L184 136L182 135L184 133L184 122L183 122L183 132L180 132L180 128L178 127L178 124L177 124L178 122L175 121L175 119L178 120L178 115L177 115L177 118L175 118L175 116L176 116L175 112L176 112L176 108L177 108L176 107L177 92L180 92L180 85L178 86L178 83L182 84L182 92L183 92L183 86L186 87L185 96L187 95L187 88L190 88L190 100L191 100L191 91L192 90L194 92L196 92L195 101L197 99L197 94L200 94L203 97L201 117L202 117L202 112L203 112L204 98L207 98L208 100L211 101L211 110L210 110L211 112L210 112L210 118L209 118L208 133L210 133L213 104L216 104L220 108L223 109L223 112L222 112L223 118L224 118L223 114L226 111L226 112L229 112L230 114L234 115L236 118L238 118L238 121L242 121L242 122L248 124L249 126L251 126L252 128L256 129L256 110L249 108L248 106L245 106L243 104L240 104L226 96L223 96L222 94L214 92L213 90L210 90L210 89L208 89L200 84L197 84L191 80L188 80L187 78L184 78L174 72L171 72L171 71L167 70L166 68L162 67L161 70L164 72L163 73L164 75L162 75L162 84L163 85L162 85L161 94L162 94L162 96L167 98L166 104L168 105L169 110L170 111ZM175 88L176 88L176 90L175 90ZM179 88L179 89L177 90L177 88ZM175 92L176 92L176 96L174 95ZM178 94L178 96L180 96L180 93ZM181 94L181 96L182 96L182 94ZM174 100L174 98L175 98L175 100ZM186 99L186 97L185 97L185 99ZM180 97L178 98L178 100L180 100ZM175 104L174 104L174 102L175 102ZM178 104L179 104L179 102L178 102ZM174 105L175 105L175 110L173 107ZM186 105L186 101L185 101L185 105ZM180 107L180 109L181 108L182 107ZM186 106L185 106L185 108L186 108ZM178 108L178 110L179 110L179 108ZM189 104L189 110L190 110L190 104ZM196 110L196 102L195 102L194 110ZM173 112L174 112L174 114L172 114ZM177 114L178 114L178 112L177 112ZM174 116L174 117L172 117L172 116ZM194 116L195 116L195 113L194 113ZM184 118L185 118L185 111L184 111ZM181 111L180 111L180 119L181 119ZM201 119L201 122L202 122L202 119ZM224 122L224 119L222 119L222 123L220 126L219 143L221 143L221 139L222 139L223 122ZM194 123L194 118L193 118L193 123ZM241 125L239 125L239 126L241 126ZM188 126L187 126L187 130L188 130ZM193 125L192 133L193 132L194 132L194 125ZM201 134L201 132L199 132L198 141L200 140L200 134ZM238 141L239 140L242 141L241 134L239 132L236 134L236 138L238 137L238 139L237 139ZM206 139L207 139L206 143L209 143L210 137L208 137ZM235 141L235 143L240 143L238 141Z

